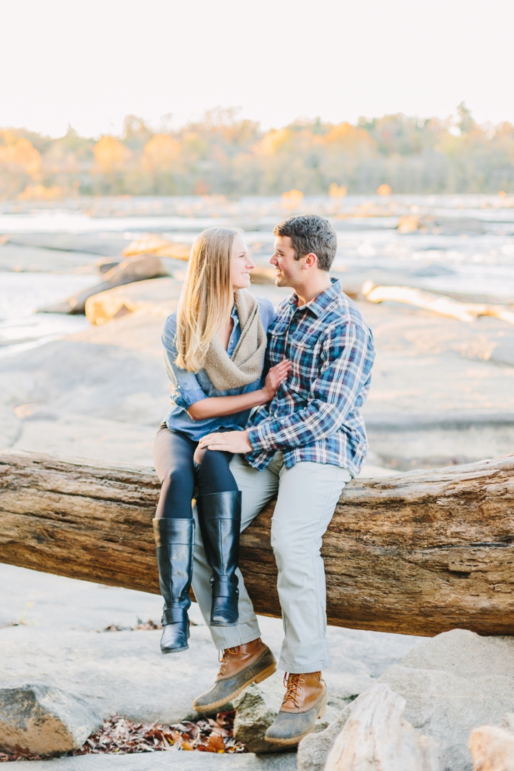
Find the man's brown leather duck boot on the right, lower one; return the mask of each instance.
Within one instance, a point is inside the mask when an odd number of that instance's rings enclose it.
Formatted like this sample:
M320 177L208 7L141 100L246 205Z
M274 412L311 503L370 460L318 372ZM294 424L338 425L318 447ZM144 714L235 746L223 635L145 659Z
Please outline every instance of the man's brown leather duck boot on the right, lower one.
M327 709L328 691L321 672L284 676L286 695L280 712L264 736L271 744L297 744L314 730Z

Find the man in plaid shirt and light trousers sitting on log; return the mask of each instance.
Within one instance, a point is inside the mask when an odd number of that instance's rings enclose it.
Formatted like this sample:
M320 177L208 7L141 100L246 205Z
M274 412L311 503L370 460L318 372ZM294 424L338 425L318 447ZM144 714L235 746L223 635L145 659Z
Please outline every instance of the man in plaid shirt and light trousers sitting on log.
M367 453L359 409L368 394L374 349L360 311L328 273L337 250L331 224L316 215L289 217L274 235L270 262L276 284L294 294L277 309L267 357L270 366L288 359L291 372L246 430L211 434L200 446L239 453L230 468L243 493L243 530L277 495L271 545L285 633L279 666L289 675L266 739L287 746L311 732L326 709L321 669L330 665L330 656L321 539L344 485L358 474ZM195 551L193 588L209 618L210 567L201 543ZM260 640L239 571L238 577L240 621L211 627L223 661L213 687L195 699L200 712L218 709L277 668Z

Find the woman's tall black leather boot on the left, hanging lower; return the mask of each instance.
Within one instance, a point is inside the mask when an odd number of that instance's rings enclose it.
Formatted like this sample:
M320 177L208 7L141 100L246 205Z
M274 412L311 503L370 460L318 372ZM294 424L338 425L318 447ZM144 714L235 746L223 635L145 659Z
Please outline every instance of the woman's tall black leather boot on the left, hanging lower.
M189 648L189 591L193 577L193 519L176 520L163 517L153 520L159 567L160 591L164 599L163 653L176 653Z

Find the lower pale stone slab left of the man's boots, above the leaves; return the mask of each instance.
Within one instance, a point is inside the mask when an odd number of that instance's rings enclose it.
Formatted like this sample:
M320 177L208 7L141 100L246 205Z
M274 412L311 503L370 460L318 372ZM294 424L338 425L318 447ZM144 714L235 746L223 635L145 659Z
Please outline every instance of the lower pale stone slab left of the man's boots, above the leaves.
M163 656L161 631L84 632L11 627L0 635L0 683L39 682L73 693L102 718L180 722L196 715L193 698L210 687L219 664L206 627L191 647Z

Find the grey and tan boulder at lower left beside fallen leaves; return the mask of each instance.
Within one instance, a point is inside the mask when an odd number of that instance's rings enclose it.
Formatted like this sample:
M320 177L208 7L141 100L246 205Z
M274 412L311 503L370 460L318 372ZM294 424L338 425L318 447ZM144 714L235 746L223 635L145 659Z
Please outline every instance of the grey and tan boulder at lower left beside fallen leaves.
M0 749L78 749L102 720L86 702L48 685L0 689Z

